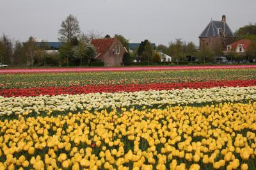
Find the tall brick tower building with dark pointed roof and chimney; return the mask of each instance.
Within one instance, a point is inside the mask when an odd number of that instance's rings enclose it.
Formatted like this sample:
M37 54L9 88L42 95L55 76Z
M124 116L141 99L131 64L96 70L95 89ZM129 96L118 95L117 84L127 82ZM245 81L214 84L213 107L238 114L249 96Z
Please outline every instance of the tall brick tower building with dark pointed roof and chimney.
M206 48L211 51L218 48L223 49L226 44L233 42L234 38L234 33L226 22L226 16L223 15L221 21L211 20L200 34L200 50Z

